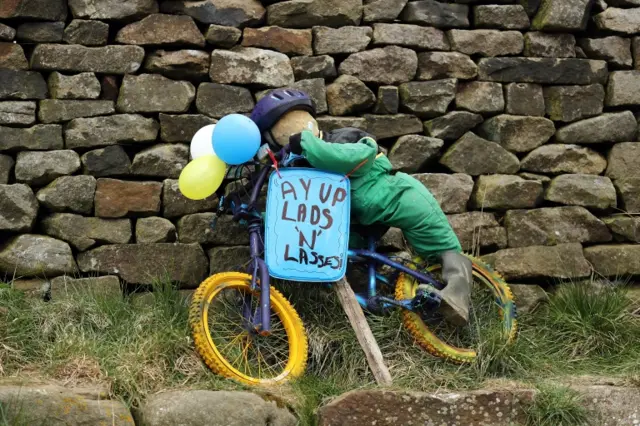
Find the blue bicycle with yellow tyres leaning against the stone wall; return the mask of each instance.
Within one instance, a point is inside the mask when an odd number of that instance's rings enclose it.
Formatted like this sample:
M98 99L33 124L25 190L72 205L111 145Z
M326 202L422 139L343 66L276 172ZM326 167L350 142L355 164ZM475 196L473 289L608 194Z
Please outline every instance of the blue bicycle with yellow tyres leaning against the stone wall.
M276 174L281 176L280 168L283 169L282 173L294 170L291 165L304 159L289 154L287 148L277 154L270 152L269 155L272 163L253 162L256 171L250 182L243 187L250 193L248 202L243 203L237 193L221 196L213 221L215 226L217 218L230 211L234 221L246 225L251 253L247 271L223 272L207 278L196 290L189 311L195 348L205 364L213 372L247 385L277 384L301 376L306 369L308 352L307 336L300 316L283 294L271 285L271 277L278 278L278 275L274 275L273 268L269 269L265 259L270 256L269 236L274 231L268 229L268 219L257 208L258 199L270 173L270 180L273 180ZM307 170L320 176L325 173L310 168L295 170ZM348 184L348 178L343 176L342 180L345 179ZM271 184L269 187L271 190ZM348 203L348 197L346 202ZM267 205L268 203L269 201ZM344 227L344 223L341 226ZM353 228L358 228L358 225ZM426 317L435 312L441 301L438 290L444 285L434 276L440 265L421 270L419 259L398 262L378 253L376 242L385 229L380 226L360 227L359 231L366 234L367 247L345 249L346 253L332 256L331 261L327 260L328 257L320 260L316 253L313 259L316 265L322 262L324 270L334 274L331 279L316 281L331 285L331 282L337 281L336 277L344 275L347 263L364 268L368 275L367 288L364 292L356 292L363 309L378 315L385 314L390 309L401 309L404 327L427 352L458 363L472 362L477 357L475 350L448 344L427 325ZM303 242L300 244L302 247ZM517 330L513 295L498 273L478 259L469 257L473 262L473 275L493 293L500 313L502 338L509 343L515 338ZM296 262L300 260L290 256L289 260L292 259ZM308 264L311 261L307 258L306 262ZM390 277L379 272L379 267L383 265L393 271ZM304 274L287 274L288 277L305 277ZM428 290L418 291L419 284L427 284ZM381 294L384 286L395 288L393 297ZM215 309L210 311L214 305ZM214 316L215 322L210 324L210 319ZM231 320L237 320L237 323L227 324ZM284 336L279 336L278 333L282 332ZM272 349L270 345L276 346L276 349ZM273 365L269 365L270 363Z

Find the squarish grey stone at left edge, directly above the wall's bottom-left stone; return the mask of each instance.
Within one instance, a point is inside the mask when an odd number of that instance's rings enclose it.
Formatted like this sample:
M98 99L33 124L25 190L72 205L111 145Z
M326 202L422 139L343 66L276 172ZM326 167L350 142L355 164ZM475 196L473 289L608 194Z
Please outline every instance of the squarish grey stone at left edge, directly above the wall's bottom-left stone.
M38 216L38 201L24 184L0 185L0 231L29 232Z

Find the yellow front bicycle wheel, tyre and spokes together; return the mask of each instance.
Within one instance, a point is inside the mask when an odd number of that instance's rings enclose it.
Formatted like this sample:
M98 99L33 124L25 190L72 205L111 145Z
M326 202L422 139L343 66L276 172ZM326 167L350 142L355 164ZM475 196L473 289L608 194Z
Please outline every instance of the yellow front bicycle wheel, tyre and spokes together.
M304 373L308 344L302 320L273 287L270 302L271 331L261 333L243 315L255 315L260 306L250 275L225 272L200 284L189 323L196 351L214 373L247 385L278 384Z

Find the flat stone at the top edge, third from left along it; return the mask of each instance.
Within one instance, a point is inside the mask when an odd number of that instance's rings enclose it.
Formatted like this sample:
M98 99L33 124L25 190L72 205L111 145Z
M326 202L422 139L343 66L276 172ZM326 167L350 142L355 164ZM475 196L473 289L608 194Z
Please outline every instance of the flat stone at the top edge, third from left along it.
M160 10L189 15L204 24L239 28L259 24L266 13L258 0L164 1Z

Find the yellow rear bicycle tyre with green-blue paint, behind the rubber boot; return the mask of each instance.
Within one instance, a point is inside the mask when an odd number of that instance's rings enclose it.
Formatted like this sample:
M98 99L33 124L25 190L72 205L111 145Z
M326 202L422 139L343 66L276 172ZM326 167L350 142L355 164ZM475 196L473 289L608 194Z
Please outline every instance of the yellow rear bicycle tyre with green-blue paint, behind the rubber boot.
M500 274L493 271L489 266L474 257L467 257L473 263L473 276L491 290L493 301L497 305L502 323L502 335L507 343L512 342L517 331L517 321L516 305L509 286ZM433 265L427 268L427 271L437 273L441 269L441 265ZM417 282L415 279L406 274L401 274L396 281L396 300L415 297L416 289ZM434 356L458 363L469 363L477 358L477 352L474 349L457 347L441 339L427 326L423 318L415 312L403 310L402 322L418 344Z

